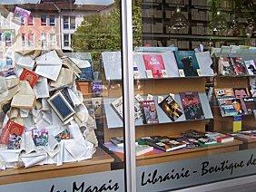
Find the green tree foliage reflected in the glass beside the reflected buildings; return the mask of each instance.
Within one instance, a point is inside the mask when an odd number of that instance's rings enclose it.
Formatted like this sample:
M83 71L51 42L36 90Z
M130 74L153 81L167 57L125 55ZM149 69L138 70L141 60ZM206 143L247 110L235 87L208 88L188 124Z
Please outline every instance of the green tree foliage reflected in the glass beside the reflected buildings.
M142 0L133 1L133 45L142 44ZM103 51L121 50L120 3L106 13L91 14L74 33L72 47L75 52L90 52L97 65Z

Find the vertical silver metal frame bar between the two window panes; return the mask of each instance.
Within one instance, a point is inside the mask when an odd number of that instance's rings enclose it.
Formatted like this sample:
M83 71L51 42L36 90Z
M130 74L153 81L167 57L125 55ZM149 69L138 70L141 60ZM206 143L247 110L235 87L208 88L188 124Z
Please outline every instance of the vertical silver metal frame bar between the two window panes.
M132 0L122 0L122 75L123 75L123 134L125 156L125 188L136 191L134 92L133 92L133 14Z

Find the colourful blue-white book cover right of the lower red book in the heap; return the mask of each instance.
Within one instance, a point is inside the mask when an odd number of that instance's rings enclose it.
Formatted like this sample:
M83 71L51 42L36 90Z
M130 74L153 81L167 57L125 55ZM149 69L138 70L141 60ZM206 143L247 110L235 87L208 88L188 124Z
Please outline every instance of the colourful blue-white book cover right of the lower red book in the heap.
M32 130L32 138L35 146L47 146L48 145L48 130L34 129Z

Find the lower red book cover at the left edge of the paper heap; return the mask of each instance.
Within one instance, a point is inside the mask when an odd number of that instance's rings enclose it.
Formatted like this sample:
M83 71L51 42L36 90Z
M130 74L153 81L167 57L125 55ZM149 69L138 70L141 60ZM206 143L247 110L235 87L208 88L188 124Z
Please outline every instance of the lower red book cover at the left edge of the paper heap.
M18 123L15 123L12 120L9 120L6 123L5 128L2 130L2 133L0 136L0 143L7 145L11 134L21 136L24 130L25 130L24 126Z

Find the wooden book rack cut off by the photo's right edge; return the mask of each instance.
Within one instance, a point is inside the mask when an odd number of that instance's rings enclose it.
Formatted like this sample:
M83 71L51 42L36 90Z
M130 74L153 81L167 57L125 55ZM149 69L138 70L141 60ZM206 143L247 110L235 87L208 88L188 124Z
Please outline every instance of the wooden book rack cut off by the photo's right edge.
M234 68L235 73L228 75L222 75L220 70L220 58L241 58L243 63L242 68ZM256 120L253 114L253 110L255 110L255 61L256 56L255 53L251 53L251 50L245 51L243 53L216 53L215 54L215 63L219 65L218 75L214 78L214 92L215 97L218 97L218 92L223 93L224 97L236 98L241 105L241 111L238 113L225 113L221 110L220 102L218 102L216 98L213 100L212 105L212 113L214 116L213 119L213 128L215 131L222 132L234 132L237 130L250 132L256 130ZM234 61L234 60L233 60ZM238 65L236 65L238 66ZM253 66L253 67L252 67ZM245 71L244 71L245 69ZM244 72L243 72L244 71ZM237 75L237 73L240 73ZM232 92L232 93L231 93ZM222 94L221 93L221 94ZM218 106L219 105L219 106ZM229 110L231 111L231 110ZM255 111L254 111L255 112ZM240 116L241 119L240 125L236 127L234 125L236 117ZM236 137L235 137L236 138ZM249 136L248 138L237 137L236 139L240 139L243 144L240 146L240 149L254 149L256 147L256 140L254 137Z

